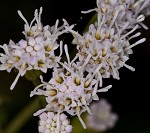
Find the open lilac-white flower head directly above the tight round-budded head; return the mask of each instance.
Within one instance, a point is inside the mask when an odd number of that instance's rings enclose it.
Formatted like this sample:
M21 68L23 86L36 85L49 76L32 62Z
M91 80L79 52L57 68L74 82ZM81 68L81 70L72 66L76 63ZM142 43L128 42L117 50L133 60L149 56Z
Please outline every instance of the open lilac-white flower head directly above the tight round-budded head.
M75 64L74 62L70 62L66 45L65 52L68 64L60 62L63 68L55 68L53 77L48 83L44 82L41 77L42 84L31 92L30 96L45 95L48 103L45 109L39 110L35 115L39 115L49 109L56 112L65 111L72 116L77 115L83 127L86 128L80 115L85 111L91 113L89 104L92 100L99 99L97 96L98 92L108 91L111 85L98 89L98 82L94 79L94 75L99 70L99 66L92 75L90 73L85 75L85 66L88 61L85 61L82 65ZM41 88L42 86L43 88Z

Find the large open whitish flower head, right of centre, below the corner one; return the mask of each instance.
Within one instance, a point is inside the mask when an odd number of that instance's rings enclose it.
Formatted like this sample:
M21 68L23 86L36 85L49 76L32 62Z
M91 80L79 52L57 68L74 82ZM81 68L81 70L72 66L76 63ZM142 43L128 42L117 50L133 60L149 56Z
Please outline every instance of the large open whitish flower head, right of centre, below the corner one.
M142 38L130 44L131 39L141 34L138 32L130 36L139 28L139 25L135 25L132 30L127 32L125 29L129 23L126 23L122 28L119 28L116 23L116 27L110 26L110 29L102 22L98 19L98 22L91 24L89 30L83 36L66 27L75 38L73 43L77 45L79 61L85 62L89 57L86 71L94 72L100 66L99 71L95 74L96 79L100 82L100 87L102 86L102 78L109 78L112 75L113 78L119 79L118 70L123 66L132 71L135 70L127 65L126 61L129 59L129 55L133 53L131 48L146 40Z

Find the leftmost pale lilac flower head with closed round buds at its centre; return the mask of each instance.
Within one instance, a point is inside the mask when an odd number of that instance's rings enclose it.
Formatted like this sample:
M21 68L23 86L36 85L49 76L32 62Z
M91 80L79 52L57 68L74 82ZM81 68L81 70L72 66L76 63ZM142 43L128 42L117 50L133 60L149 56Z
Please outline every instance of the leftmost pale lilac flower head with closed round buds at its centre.
M44 73L47 72L48 68L53 68L58 66L58 61L61 59L62 55L62 44L57 42L58 36L67 32L65 26L69 26L66 20L64 24L58 27L59 21L52 27L44 26L41 23L41 14L35 10L34 18L30 25L24 18L22 13L18 11L20 17L25 21L25 40L21 39L18 43L14 43L10 40L9 44L4 44L0 46L4 50L4 54L0 54L0 70L11 71L12 68L16 68L19 73L13 82L10 89L12 90L17 83L20 76L23 76L28 70L40 70ZM33 26L33 23L35 25ZM70 26L73 28L73 25ZM60 55L56 56L54 51L60 47Z

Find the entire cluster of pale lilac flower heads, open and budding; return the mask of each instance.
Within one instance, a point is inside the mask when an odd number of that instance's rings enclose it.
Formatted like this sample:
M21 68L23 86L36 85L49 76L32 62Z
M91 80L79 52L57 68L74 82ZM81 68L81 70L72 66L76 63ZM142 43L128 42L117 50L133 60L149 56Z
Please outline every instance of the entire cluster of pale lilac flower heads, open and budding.
M131 39L141 34L136 32L138 28L148 29L143 21L144 14L149 14L147 6L149 3L150 0L97 0L97 8L83 11L83 13L96 11L97 15L95 23L90 24L88 31L83 35L74 31L74 25L69 26L66 20L63 20L64 23L60 27L58 20L52 27L43 26L42 8L39 13L35 10L30 24L18 11L25 22L23 31L25 39L21 39L18 43L10 40L8 45L0 46L4 50L4 54L0 53L0 70L10 72L15 68L19 71L10 87L12 90L19 77L27 71L40 70L47 73L47 69L53 68L49 82L45 82L40 76L41 84L30 95L42 95L47 102L44 109L34 114L40 117L40 133L70 133L72 126L64 113L77 115L86 128L81 114L85 111L89 114L94 113L93 109L89 108L91 102L99 100L99 92L106 92L112 87L111 85L103 87L103 78L112 76L120 79L119 69L123 66L135 70L126 61L133 53L132 48L146 40L141 38L131 43ZM73 43L78 53L72 61L67 45L63 46L63 41L58 41L58 37L64 33L71 33L74 36ZM58 47L60 54L56 56L54 52ZM61 60L63 48L67 59L64 62ZM102 111L96 108L100 113L103 114L103 111L106 113L105 120L102 120L102 130L112 126L112 121L116 120L109 115L110 108L104 104L105 102L100 103Z

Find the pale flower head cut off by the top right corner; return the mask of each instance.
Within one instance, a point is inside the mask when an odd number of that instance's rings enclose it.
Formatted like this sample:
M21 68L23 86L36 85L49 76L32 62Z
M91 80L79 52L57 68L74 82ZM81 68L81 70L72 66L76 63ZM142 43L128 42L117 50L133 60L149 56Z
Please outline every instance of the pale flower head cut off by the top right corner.
M128 22L127 29L131 29L136 24L140 24L145 29L148 29L142 23L145 17L143 16L140 20L138 18L141 16L139 16L140 12L146 9L149 3L149 0L97 0L97 8L82 11L82 13L97 11L99 14L98 19L110 28L114 27L115 23L119 27L123 27Z

